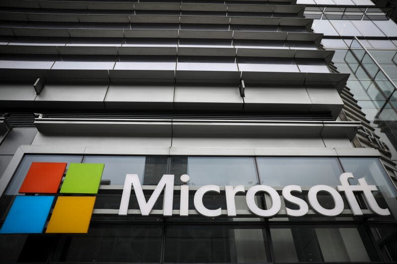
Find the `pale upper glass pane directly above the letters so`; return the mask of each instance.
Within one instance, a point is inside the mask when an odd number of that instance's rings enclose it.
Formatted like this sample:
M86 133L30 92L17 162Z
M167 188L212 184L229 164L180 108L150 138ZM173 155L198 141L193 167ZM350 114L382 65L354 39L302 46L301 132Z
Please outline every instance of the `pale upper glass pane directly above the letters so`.
M336 186L343 172L336 158L257 158L261 183L269 186Z

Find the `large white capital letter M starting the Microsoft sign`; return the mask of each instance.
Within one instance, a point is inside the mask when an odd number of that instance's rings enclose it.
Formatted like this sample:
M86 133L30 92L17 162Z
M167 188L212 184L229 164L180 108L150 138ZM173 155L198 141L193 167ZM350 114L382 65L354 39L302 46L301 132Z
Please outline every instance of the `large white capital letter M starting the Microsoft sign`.
M140 185L137 174L127 174L126 180L124 181L123 195L121 197L119 215L127 215L128 204L130 203L131 187L135 190L136 199L138 200L139 209L142 215L149 215L153 209L154 203L156 203L160 193L164 190L163 200L163 214L165 216L172 215L172 202L174 195L174 175L164 174L161 177L160 182L157 184L154 192L146 202L145 196L143 195L142 186Z

